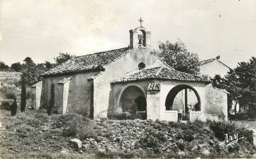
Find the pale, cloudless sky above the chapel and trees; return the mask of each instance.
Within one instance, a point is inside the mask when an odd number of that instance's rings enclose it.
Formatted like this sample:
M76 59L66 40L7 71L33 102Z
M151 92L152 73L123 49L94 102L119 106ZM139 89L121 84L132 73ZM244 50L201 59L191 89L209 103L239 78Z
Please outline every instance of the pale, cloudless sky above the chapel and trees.
M200 60L220 55L231 68L256 54L255 0L0 0L0 60L54 62L60 52L127 47L139 17L153 49L179 38Z

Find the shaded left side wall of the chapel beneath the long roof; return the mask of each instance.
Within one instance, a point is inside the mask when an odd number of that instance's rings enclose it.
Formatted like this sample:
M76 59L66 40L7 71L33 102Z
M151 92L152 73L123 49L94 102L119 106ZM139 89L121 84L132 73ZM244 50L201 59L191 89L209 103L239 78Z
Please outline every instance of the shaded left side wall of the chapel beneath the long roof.
M83 115L89 116L90 105L91 105L91 85L88 82L88 78L99 73L96 72L86 72L86 73L76 73L73 75L61 75L61 76L49 76L43 80L43 92L42 92L42 103L44 107L47 107L50 99L51 83L55 84L55 92L60 92L61 88L57 86L57 83L63 78L72 77L70 80L68 88L68 102L67 110L68 113L81 113ZM64 89L64 88L63 88ZM61 95L59 96L61 97ZM63 99L63 97L62 97ZM57 99L56 99L57 100ZM55 105L56 107L62 107L61 105ZM57 108L60 110L60 108Z

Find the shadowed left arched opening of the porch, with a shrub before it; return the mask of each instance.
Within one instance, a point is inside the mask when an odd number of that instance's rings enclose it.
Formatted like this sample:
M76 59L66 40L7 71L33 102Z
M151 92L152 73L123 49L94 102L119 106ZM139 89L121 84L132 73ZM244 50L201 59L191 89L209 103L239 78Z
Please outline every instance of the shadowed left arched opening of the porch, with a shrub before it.
M137 86L129 86L123 91L120 98L122 112L127 113L132 118L147 118L147 102L144 92Z

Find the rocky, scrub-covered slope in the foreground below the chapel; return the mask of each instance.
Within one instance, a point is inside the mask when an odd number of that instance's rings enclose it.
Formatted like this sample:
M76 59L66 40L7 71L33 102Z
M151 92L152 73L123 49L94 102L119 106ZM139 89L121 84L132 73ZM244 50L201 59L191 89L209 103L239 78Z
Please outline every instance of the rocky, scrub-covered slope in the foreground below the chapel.
M231 147L220 145L215 129L221 123L89 120L35 110L16 116L1 110L0 121L0 158L250 157L254 153L252 134L245 128L237 128L244 132L244 140Z

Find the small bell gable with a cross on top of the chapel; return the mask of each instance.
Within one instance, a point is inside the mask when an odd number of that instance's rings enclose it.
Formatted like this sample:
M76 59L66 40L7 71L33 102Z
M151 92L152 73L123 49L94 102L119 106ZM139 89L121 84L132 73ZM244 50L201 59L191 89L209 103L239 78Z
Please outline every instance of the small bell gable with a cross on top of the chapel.
M151 47L151 32L142 27L143 20L140 18L140 27L130 30L130 47L146 49Z

